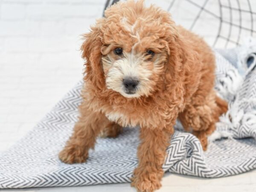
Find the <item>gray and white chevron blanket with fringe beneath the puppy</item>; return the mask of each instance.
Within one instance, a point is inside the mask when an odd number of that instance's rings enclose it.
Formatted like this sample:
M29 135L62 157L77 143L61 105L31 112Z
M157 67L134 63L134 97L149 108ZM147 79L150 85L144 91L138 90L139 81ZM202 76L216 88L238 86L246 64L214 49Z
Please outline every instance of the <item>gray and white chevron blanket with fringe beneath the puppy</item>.
M256 57L251 62L250 53L246 46L216 52L215 88L230 109L217 123L206 152L177 123L166 172L224 177L256 168ZM77 119L81 87L79 82L26 137L0 154L0 189L130 182L137 166L138 128L124 128L115 139L99 138L87 163L67 165L58 159Z

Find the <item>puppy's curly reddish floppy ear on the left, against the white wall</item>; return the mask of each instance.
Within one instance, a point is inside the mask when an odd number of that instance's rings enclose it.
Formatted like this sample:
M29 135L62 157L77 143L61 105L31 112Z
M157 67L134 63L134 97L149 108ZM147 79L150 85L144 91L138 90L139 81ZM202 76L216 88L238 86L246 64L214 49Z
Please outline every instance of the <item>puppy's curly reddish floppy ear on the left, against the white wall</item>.
M81 45L82 58L85 62L84 80L94 84L97 89L105 86L105 77L102 69L102 31L100 26L104 18L97 20L96 26L91 27L91 31L83 35L84 42Z

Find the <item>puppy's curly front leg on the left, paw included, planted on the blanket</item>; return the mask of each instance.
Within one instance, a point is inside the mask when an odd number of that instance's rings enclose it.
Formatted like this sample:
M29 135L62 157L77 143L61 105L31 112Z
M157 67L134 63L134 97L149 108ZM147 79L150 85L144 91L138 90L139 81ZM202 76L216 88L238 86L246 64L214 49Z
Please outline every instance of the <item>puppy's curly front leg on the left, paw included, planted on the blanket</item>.
M59 158L64 163L85 162L88 151L94 147L99 132L109 123L104 114L88 111L82 106L80 113L81 116L74 127L73 135L59 153Z

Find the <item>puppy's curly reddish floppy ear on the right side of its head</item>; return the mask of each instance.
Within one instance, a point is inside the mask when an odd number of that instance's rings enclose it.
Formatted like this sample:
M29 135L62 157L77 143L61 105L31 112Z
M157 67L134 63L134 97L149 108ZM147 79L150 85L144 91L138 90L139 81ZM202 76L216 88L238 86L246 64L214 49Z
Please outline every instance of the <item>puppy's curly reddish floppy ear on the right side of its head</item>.
M175 91L179 91L183 93L183 96L189 96L186 93L193 93L201 78L201 73L198 73L198 54L194 50L195 47L192 47L186 30L180 26L176 27L177 30L172 30L168 41L166 87L174 94Z

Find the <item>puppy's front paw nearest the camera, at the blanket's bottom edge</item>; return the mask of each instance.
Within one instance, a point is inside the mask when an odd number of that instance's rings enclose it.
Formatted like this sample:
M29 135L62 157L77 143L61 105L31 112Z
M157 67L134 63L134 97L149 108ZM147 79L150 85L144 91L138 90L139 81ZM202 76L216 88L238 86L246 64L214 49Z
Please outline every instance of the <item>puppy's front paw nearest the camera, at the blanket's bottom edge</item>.
M159 176L157 173L146 173L137 168L134 170L131 186L134 186L138 192L154 192L161 187Z

